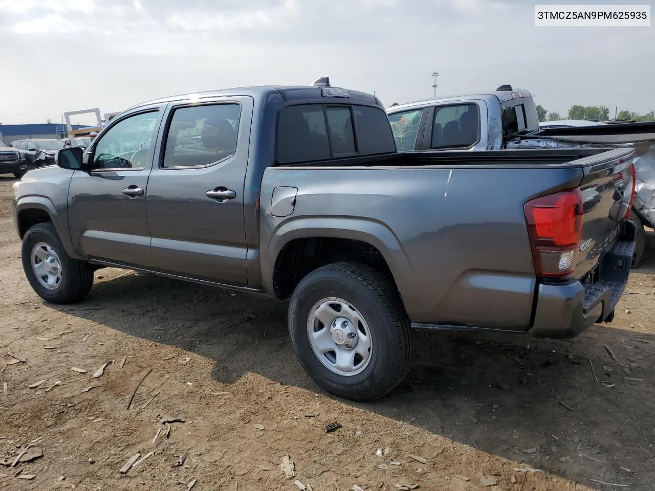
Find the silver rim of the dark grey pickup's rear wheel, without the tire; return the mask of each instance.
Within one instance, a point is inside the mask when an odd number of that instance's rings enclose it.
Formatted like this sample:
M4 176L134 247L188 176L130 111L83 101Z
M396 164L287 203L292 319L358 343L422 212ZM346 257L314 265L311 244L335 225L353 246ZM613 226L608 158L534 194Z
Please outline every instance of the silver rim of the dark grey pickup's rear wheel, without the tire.
M371 331L346 300L329 297L316 302L307 319L307 335L314 355L332 373L354 376L371 362Z

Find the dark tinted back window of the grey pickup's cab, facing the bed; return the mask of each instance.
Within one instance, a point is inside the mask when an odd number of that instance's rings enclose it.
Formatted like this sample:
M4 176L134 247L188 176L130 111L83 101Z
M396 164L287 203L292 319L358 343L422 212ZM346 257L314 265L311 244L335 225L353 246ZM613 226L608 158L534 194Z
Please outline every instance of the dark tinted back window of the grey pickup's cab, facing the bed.
M396 151L386 113L359 105L305 104L280 112L280 164L329 160Z

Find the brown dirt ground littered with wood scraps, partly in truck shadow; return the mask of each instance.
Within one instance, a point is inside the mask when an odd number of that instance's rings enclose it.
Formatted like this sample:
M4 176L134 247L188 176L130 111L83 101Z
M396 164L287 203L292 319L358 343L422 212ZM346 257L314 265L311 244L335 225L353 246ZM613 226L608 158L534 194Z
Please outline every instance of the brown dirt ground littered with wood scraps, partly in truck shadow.
M45 304L22 272L13 182L0 177L0 489L655 488L655 355L636 359L655 352L655 254L612 323L565 341L419 333L402 386L356 404L301 369L280 302L105 269L83 303ZM184 421L166 437L158 415ZM43 456L12 467L35 440Z

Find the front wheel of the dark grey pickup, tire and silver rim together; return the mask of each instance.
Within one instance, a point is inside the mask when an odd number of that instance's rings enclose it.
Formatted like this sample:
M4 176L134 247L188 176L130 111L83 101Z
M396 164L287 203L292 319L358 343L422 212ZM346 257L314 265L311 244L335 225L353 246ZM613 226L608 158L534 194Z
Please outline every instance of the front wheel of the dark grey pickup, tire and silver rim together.
M32 289L47 302L79 302L93 285L93 269L71 258L52 223L38 223L23 237L23 270Z

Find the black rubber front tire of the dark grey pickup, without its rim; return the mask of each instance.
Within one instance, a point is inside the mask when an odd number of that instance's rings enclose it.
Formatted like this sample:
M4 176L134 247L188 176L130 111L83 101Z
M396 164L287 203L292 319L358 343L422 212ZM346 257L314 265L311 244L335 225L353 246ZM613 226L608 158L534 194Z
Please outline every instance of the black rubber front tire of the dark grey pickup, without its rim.
M59 258L62 279L55 289L47 289L41 285L31 265L32 249L40 242L52 247ZM66 253L57 230L51 222L38 223L29 228L23 237L21 255L25 276L32 289L43 300L53 304L71 304L84 299L91 291L93 269L89 264L77 261Z

